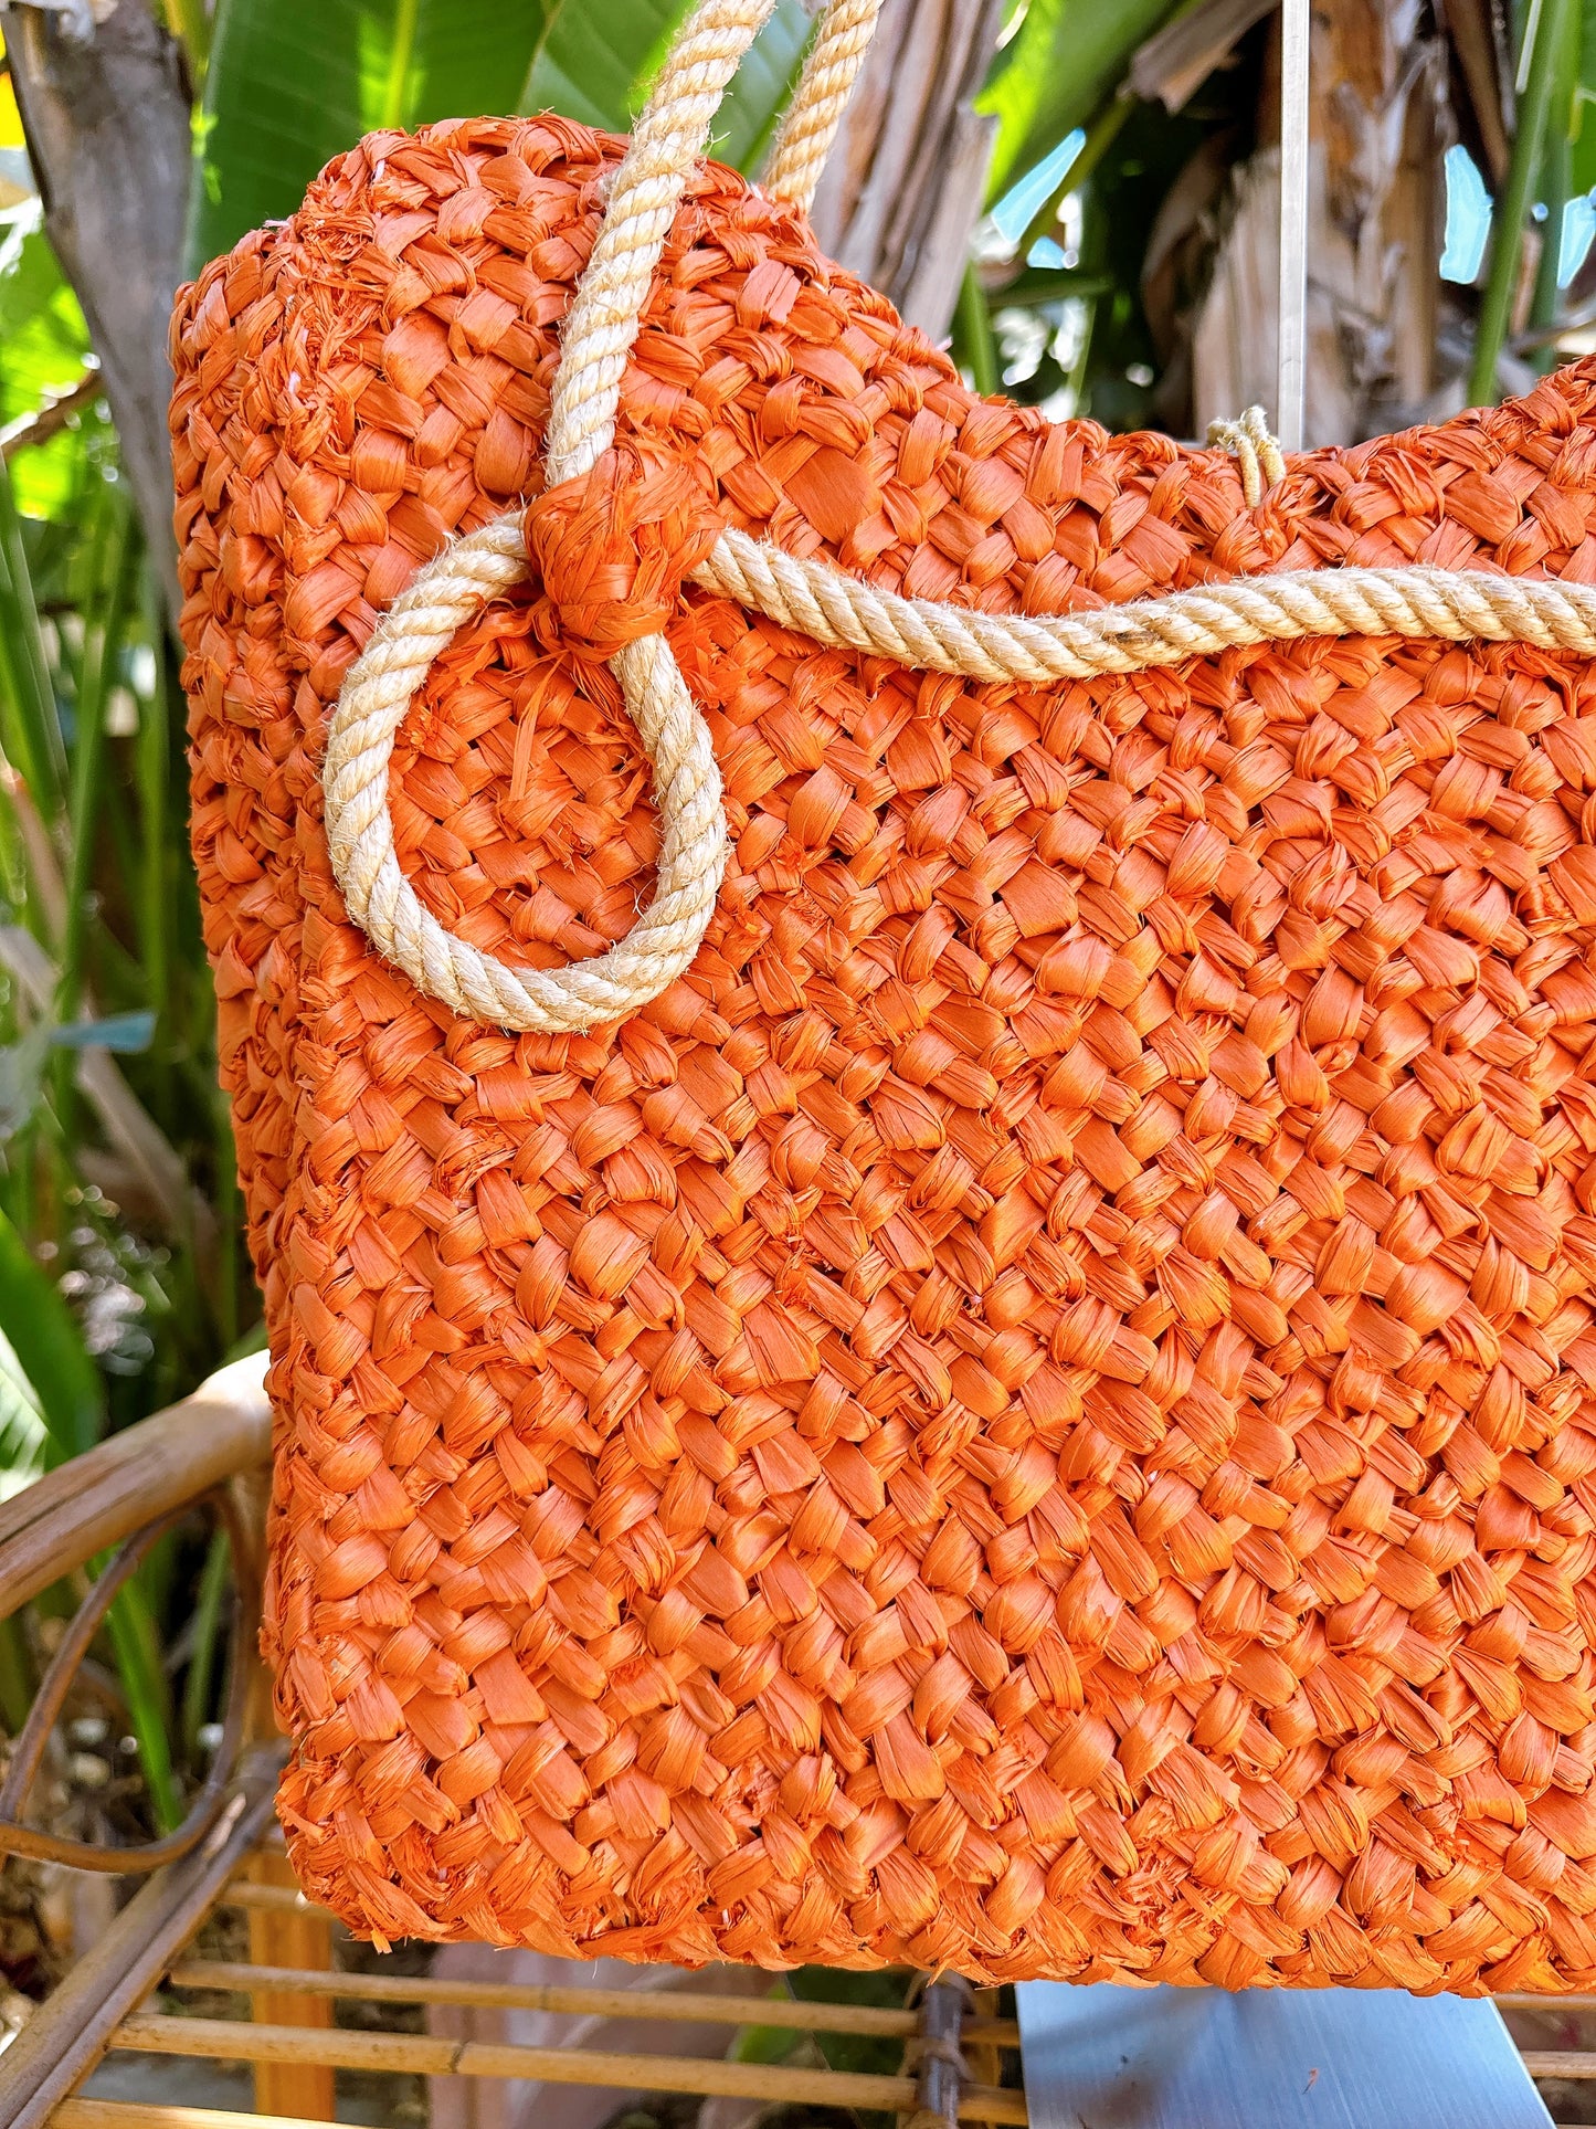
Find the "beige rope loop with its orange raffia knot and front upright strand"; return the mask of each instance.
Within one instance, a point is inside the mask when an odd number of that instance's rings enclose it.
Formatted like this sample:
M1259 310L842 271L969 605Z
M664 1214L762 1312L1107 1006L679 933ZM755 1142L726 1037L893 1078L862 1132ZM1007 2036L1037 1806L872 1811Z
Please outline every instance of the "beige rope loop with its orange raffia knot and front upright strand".
M323 818L349 915L417 990L489 1026L568 1035L649 1005L689 967L726 875L715 749L662 632L698 549L685 526L672 539L681 498L672 502L651 488L626 456L606 468L602 462L664 241L715 109L770 4L700 0L666 57L611 181L604 221L560 336L545 434L549 490L526 519L521 509L506 511L411 581L349 666L328 720ZM813 64L811 53L804 83L834 106L834 128L836 68L828 66L819 79ZM658 528L658 537L643 539L645 526ZM583 539L594 528L604 537L596 556L583 558ZM517 581L530 558L528 539L570 647L609 656L653 764L660 809L649 907L606 954L547 971L513 969L479 952L421 907L398 862L387 803L394 735L415 690L453 634Z

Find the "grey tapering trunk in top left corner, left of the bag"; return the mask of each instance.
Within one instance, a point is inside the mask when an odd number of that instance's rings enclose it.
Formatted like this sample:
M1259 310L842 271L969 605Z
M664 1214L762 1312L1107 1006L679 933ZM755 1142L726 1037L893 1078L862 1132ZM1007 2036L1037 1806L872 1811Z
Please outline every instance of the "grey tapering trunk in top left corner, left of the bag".
M166 321L183 258L189 98L183 60L145 0L13 6L6 55L45 230L89 324L149 551L177 596Z

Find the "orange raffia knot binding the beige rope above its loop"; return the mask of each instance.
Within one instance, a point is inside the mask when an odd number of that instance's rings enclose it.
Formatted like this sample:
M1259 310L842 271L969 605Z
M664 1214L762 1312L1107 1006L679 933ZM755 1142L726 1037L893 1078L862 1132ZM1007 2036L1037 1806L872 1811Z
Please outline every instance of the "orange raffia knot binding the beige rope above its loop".
M647 460L611 445L592 473L560 481L521 522L543 598L534 630L545 649L613 658L658 637L683 579L709 558L721 519L715 488L683 460Z

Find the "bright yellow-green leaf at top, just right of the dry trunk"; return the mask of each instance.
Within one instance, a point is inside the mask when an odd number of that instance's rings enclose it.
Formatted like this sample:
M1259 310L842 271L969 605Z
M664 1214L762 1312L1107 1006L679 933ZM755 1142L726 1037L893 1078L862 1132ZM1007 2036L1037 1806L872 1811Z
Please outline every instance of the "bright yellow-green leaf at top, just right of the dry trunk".
M998 119L987 196L1087 126L1175 0L1030 0L979 98Z

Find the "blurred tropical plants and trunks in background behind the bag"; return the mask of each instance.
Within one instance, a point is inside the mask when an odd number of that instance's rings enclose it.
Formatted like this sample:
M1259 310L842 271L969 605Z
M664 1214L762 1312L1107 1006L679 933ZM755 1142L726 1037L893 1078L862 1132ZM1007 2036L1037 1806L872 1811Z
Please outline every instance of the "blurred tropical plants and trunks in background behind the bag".
M624 130L683 0L49 0L0 77L0 1492L260 1339L185 847L164 319L364 130ZM758 170L813 19L719 119ZM1266 0L885 0L821 241L1055 417L1268 405ZM1596 347L1596 0L1315 0L1309 430L1356 441ZM1443 277L1445 268L1445 277ZM172 1539L74 1703L72 1831L204 1771L226 1561ZM0 1629L15 1733L49 1599ZM81 1759L81 1754L79 1754ZM94 1754L89 1754L94 1759ZM77 1786L74 1786L77 1784Z

